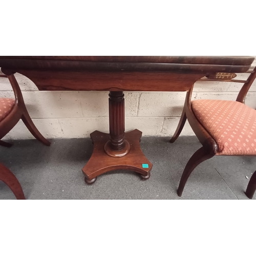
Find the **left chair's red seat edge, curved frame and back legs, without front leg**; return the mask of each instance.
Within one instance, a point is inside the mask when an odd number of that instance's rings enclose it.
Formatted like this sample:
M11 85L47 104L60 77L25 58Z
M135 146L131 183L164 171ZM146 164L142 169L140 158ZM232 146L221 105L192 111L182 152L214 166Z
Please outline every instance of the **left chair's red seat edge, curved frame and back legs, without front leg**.
M28 130L37 140L50 146L51 142L40 134L31 120L15 76L13 74L0 74L0 77L9 79L15 96L15 99L0 98L0 145L7 147L12 146L12 144L2 141L1 139L11 131L21 118Z

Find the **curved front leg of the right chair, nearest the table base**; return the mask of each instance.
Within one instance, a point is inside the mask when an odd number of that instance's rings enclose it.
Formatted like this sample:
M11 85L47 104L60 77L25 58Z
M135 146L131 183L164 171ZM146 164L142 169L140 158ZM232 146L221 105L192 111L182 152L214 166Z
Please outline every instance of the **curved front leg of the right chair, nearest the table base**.
M207 151L204 147L200 147L198 151L194 153L193 156L188 160L186 167L183 171L183 174L180 179L179 188L177 194L181 197L185 184L189 175L193 172L193 170L203 161L215 156L214 152Z

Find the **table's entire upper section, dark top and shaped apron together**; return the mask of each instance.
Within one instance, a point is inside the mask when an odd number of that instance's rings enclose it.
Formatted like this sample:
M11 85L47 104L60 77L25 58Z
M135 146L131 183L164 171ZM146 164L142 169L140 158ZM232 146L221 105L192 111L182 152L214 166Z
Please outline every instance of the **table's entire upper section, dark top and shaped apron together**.
M251 56L0 56L41 91L187 91L200 78L244 73Z

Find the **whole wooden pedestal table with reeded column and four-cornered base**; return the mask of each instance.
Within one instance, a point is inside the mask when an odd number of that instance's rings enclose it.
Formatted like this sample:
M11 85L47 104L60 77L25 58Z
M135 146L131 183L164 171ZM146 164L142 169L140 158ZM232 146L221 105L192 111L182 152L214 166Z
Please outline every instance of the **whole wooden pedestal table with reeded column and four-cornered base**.
M115 169L150 178L152 163L140 148L142 132L124 133L124 91L188 91L204 76L246 72L250 56L0 56L5 75L20 73L40 91L110 91L110 133L94 131L85 181ZM171 104L171 102L170 102Z

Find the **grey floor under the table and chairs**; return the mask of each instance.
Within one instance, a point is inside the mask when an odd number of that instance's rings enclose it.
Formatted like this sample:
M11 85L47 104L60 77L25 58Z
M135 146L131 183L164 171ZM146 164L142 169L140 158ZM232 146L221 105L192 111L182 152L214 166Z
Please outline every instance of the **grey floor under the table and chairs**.
M248 199L246 176L250 179L256 168L256 158L248 156L217 156L201 163L178 197L183 169L201 144L196 137L168 141L142 137L142 151L153 163L146 181L135 172L115 170L100 175L93 185L84 183L81 168L93 151L89 138L55 139L50 147L36 140L9 141L14 145L0 147L0 162L15 174L27 199ZM2 181L0 199L15 199Z

